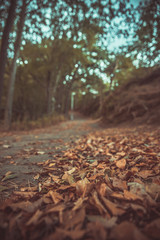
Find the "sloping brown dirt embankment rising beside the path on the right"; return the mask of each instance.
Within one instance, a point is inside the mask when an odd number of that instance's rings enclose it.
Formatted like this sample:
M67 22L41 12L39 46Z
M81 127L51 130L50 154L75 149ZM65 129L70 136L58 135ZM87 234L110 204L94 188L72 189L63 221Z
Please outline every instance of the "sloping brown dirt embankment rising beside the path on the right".
M110 94L102 110L105 123L160 124L160 68Z

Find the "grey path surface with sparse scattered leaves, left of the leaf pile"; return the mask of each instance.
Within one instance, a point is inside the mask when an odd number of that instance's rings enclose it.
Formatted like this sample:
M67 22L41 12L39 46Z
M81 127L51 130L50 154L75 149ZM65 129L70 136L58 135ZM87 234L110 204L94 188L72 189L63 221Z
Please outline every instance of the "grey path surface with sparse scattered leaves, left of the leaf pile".
M41 172L38 162L62 155L72 142L100 129L97 120L82 118L28 132L1 133L0 137L0 180L7 185L3 197L7 197L20 186L34 185L34 176ZM8 175L5 178L5 175ZM0 189L1 190L1 189ZM2 192L0 192L2 197Z

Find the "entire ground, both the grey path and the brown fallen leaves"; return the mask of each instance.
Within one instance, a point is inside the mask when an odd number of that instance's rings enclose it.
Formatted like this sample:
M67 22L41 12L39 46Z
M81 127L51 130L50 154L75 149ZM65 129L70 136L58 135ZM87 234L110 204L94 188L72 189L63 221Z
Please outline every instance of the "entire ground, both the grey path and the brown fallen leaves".
M72 121L0 138L1 239L159 239L160 128Z

